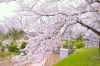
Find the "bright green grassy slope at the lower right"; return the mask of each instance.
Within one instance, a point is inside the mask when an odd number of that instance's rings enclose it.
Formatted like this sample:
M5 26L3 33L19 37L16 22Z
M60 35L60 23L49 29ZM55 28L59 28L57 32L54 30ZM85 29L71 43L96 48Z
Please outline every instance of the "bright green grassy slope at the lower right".
M82 48L53 66L100 66L98 48Z

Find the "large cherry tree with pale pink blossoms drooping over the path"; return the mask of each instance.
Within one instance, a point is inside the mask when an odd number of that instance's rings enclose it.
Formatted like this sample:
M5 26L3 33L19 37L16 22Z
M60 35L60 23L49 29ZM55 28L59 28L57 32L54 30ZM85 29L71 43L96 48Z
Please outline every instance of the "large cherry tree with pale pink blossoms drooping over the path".
M9 25L11 23L13 27L24 29L26 32L33 30L37 34L35 37L28 36L29 44L21 50L21 55L14 58L18 62L17 66L41 62L47 53L51 53L53 49L57 50L63 35L69 37L70 31L72 36L77 36L89 29L100 36L99 0L16 0L16 2L19 8L15 12L21 14L21 19L11 18L8 20ZM82 29L80 26L83 26Z

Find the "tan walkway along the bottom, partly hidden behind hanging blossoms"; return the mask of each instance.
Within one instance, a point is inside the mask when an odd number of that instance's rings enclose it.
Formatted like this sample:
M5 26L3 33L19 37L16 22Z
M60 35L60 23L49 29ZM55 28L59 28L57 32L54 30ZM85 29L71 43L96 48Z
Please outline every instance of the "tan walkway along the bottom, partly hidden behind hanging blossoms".
M56 54L50 54L46 60L46 62L42 62L43 64L45 64L44 66L52 66L53 64L57 63L58 61L60 61L59 55ZM11 62L11 60L4 60L4 61L0 61L0 66L14 66L14 62ZM36 66L33 64L28 64L26 66ZM41 66L41 64L39 64L38 66Z

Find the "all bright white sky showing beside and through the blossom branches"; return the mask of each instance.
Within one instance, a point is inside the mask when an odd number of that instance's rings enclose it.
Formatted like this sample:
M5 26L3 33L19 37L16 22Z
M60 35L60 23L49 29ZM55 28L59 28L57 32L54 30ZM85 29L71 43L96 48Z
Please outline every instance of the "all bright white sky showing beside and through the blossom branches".
M31 1L31 0L25 0L26 2L27 1ZM43 0L44 2L45 0ZM77 7L77 4L76 3L79 3L80 1L83 1L83 0L75 0L75 2L71 2L74 7ZM68 4L66 3L67 1L66 0L63 0L62 4ZM69 2L69 0L68 0ZM13 14L15 14L13 11L18 7L18 5L16 4L16 1L11 1L9 3L6 3L6 2L3 2L3 3L0 3L0 20L3 20L4 17L11 17ZM1 22L0 22L1 24Z

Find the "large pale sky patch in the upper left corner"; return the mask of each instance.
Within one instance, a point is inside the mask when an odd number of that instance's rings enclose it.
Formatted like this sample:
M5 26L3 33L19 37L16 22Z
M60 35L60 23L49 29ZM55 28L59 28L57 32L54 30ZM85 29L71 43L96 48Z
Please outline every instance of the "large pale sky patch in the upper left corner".
M0 20L4 20L4 17L11 17L15 14L13 11L18 7L16 1L11 1L9 3L0 3ZM0 22L1 24L1 22Z

